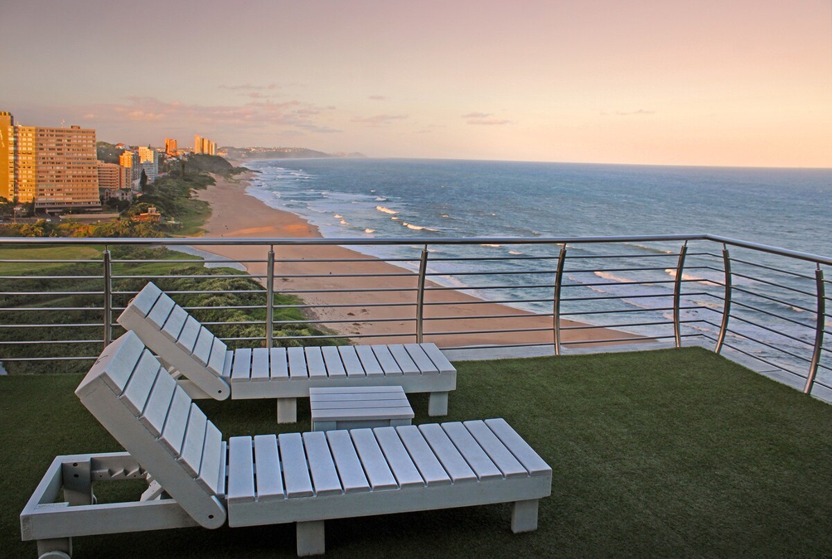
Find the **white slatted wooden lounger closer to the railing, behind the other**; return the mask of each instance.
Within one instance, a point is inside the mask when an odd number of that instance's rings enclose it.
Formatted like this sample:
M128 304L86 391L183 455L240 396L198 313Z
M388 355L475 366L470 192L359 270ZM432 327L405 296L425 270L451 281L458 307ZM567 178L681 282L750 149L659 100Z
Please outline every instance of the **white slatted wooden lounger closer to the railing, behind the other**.
M457 371L436 344L228 349L225 343L148 283L118 323L181 374L192 398L276 398L278 423L297 421L296 398L310 387L385 386L428 392L428 414L448 414Z

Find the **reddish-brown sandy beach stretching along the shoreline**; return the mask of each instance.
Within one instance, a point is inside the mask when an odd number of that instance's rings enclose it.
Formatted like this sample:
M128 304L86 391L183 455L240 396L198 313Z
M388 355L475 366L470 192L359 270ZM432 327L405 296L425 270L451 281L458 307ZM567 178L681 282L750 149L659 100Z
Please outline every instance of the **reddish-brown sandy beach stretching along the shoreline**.
M246 195L245 188L253 173L245 173L233 179L217 176L216 185L199 190L197 197L211 205L212 214L206 222L204 237L220 238L320 238L314 225L288 211L275 210L254 196ZM265 246L201 246L216 255L232 260L265 260L268 247ZM293 289L339 289L338 293L299 293L307 304L349 304L336 308L314 308L308 313L310 319L324 320L324 325L344 336L373 334L370 338L359 338L359 344L410 343L415 340L416 291L362 292L352 289L387 289L417 287L415 276L410 277L327 277L331 274L401 274L398 266L381 260L371 262L281 262L280 260L310 259L356 259L369 258L341 246L291 245L275 247L275 290ZM265 263L244 263L252 275L264 275ZM324 277L290 278L284 276L312 274ZM265 280L263 280L265 281ZM427 282L428 286L438 286ZM541 317L521 309L503 304L464 304L482 301L456 290L430 291L426 303L448 302L450 304L426 304L424 341L434 342L439 347L468 346L483 344L551 344L552 318ZM382 306L367 306L367 304ZM407 304L407 306L398 306ZM354 305L354 306L353 306ZM506 315L500 319L472 318L483 315ZM442 320L428 320L431 317L450 317ZM329 322L333 321L333 322ZM344 322L335 322L344 321ZM561 326L581 325L562 320ZM448 331L476 331L493 329L541 329L532 332L508 332L502 334L441 334ZM409 334L409 335L392 335ZM563 341L597 340L631 337L612 329L567 330L562 333Z

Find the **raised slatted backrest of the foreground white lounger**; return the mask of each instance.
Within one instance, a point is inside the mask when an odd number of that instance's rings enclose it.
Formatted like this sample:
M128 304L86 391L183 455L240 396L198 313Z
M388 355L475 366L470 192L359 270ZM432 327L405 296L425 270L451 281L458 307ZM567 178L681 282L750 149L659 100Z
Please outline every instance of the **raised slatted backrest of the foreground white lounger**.
M222 433L136 334L107 346L75 393L196 522L225 523Z

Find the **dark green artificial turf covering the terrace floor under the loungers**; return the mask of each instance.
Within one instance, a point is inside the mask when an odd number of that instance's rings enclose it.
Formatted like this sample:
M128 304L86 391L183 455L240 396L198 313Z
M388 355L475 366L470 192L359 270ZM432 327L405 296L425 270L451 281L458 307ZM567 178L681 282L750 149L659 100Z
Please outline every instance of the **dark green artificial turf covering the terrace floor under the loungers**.
M443 421L503 417L552 466L537 532L510 506L326 522L328 555L832 555L832 408L704 349L458 362ZM18 515L57 454L117 443L72 391L81 375L0 378L0 555L35 557ZM410 395L429 423L426 394ZM225 438L310 428L275 403L201 401ZM96 487L137 497L138 482ZM73 557L292 557L293 525L80 537Z

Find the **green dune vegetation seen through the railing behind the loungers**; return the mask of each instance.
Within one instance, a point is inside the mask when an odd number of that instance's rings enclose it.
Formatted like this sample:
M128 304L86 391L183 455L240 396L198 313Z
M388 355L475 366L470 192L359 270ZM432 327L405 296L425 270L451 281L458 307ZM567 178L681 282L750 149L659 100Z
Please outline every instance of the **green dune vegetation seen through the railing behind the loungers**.
M0 280L0 362L12 374L22 373L77 373L86 370L92 360L24 360L51 357L95 357L102 350L104 323L104 280L100 249L87 246L6 248L0 250L0 260L17 260L22 252L43 260L69 260L77 255L82 260L99 260L92 263L27 265L26 270L16 270L13 280ZM236 324L211 325L210 329L221 338L265 337L265 308L263 309L212 309L210 307L265 307L263 287L250 276L231 268L205 268L201 259L165 248L131 246L111 247L113 308L126 306L131 293L139 291L147 281L153 281L161 289L174 291L215 291L211 294L173 294L176 302L186 307L209 307L191 311L196 319L204 322L229 322ZM119 262L119 260L162 260L161 262ZM166 262L165 260L194 260L193 264ZM12 264L7 264L12 265ZM27 277L48 275L50 278ZM217 275L234 277L220 278ZM139 277L124 277L139 276ZM172 276L160 278L155 276ZM196 277L178 277L196 276ZM240 293L232 293L240 291ZM72 292L74 294L68 294ZM124 293L124 294L120 294ZM297 297L275 294L276 305L299 304ZM41 309L41 310L36 310ZM58 308L71 308L58 310ZM52 310L56 309L56 310ZM114 310L112 319L121 311ZM329 330L305 324L300 309L275 309L275 320L300 321L300 324L275 327L275 338L280 336L309 336L330 334ZM49 324L38 326L38 324ZM88 324L88 325L87 325ZM112 338L122 334L117 325ZM72 343L43 344L49 340L71 340ZM89 342L85 340L91 340ZM15 343L11 343L15 342ZM31 343L27 343L31 342ZM346 339L315 340L315 344L344 344ZM235 347L260 347L262 340L235 340ZM303 340L285 340L287 345L308 345Z

